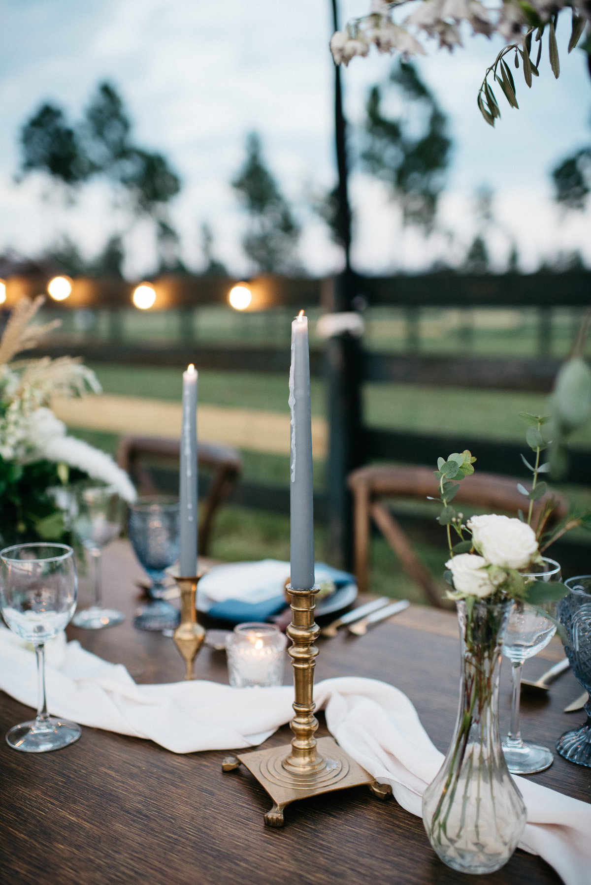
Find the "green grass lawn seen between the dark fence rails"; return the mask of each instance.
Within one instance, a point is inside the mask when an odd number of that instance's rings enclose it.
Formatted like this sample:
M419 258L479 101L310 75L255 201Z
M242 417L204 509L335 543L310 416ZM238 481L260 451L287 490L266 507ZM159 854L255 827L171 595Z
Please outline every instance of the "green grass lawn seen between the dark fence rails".
M180 401L181 377L175 369L143 366L93 366L106 393L152 396ZM199 373L200 402L237 408L287 412L287 380L283 375L247 373ZM517 412L546 413L548 397L531 393L416 387L405 384L368 384L363 391L366 422L373 427L424 433L465 433L500 440L524 439L525 427ZM325 414L323 381L312 382L312 411ZM114 453L117 438L96 431L73 430L105 451ZM591 427L575 442L591 448ZM478 454L478 453L476 453ZM244 479L287 486L289 458L242 452ZM315 487L323 489L324 464L315 463ZM561 487L572 501L591 506L591 490ZM326 532L315 527L316 558L326 558ZM440 581L445 562L444 538L432 546L416 543L425 566ZM212 555L229 561L289 558L289 518L284 514L245 510L233 505L220 512ZM441 584L442 592L444 585ZM421 592L408 580L385 541L373 538L370 550L372 592L424 602Z

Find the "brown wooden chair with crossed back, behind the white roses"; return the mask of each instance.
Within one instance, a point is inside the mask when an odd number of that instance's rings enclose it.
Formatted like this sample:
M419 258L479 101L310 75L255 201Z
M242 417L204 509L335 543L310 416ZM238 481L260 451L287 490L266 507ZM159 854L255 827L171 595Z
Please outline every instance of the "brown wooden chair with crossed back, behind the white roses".
M440 591L424 565L416 557L408 537L397 519L383 504L381 498L439 496L437 480L428 467L377 465L359 467L349 473L347 483L354 496L354 563L357 585L362 593L368 592L368 554L370 520L376 523L385 540L394 550L400 563L413 581L419 584L432 605L441 607ZM556 524L568 513L568 504L562 495L547 493L534 504L533 521L548 497L556 499L556 510L548 525ZM506 512L517 515L525 510L527 501L517 491L517 480L494 473L472 473L460 483L453 506L468 504L482 507L488 512ZM433 507L433 519L437 513Z

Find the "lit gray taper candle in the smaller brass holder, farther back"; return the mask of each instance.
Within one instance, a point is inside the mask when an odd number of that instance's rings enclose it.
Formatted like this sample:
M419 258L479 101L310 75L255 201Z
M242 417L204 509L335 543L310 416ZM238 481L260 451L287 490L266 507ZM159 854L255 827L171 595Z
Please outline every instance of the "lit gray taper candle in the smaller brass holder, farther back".
M179 571L184 578L197 574L197 375L192 363L183 372Z

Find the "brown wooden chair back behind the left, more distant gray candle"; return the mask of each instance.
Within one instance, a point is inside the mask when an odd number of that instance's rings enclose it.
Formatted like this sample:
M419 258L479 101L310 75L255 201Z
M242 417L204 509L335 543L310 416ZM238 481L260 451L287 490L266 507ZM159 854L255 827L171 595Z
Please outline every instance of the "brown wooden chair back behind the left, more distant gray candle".
M151 467L153 470L154 467L170 466L172 462L178 469L179 457L179 440L159 436L122 436L117 450L117 463L127 470L141 495L157 495L161 491ZM207 556L215 514L236 485L242 461L234 449L199 441L198 465L213 472L199 526L199 553Z

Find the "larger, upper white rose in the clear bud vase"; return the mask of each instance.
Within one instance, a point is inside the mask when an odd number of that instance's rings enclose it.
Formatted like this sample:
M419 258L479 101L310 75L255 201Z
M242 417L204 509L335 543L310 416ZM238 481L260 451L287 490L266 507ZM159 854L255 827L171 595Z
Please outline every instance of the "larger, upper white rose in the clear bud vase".
M468 522L474 546L493 566L525 568L538 550L533 528L521 519L490 513Z

